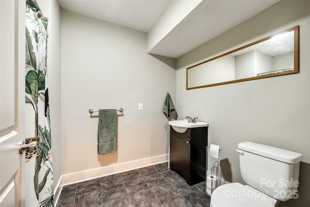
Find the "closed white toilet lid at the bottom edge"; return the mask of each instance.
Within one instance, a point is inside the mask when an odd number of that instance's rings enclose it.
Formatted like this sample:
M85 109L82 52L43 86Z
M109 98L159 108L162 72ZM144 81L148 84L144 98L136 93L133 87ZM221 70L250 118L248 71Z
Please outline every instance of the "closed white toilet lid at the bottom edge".
M213 191L210 207L275 207L272 199L247 185L230 183Z

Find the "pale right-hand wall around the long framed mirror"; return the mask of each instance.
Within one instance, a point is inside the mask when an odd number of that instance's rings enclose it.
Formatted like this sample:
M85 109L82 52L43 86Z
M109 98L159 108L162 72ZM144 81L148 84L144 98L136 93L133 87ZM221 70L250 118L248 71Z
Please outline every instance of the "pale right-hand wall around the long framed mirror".
M300 25L298 74L186 91L186 67L295 25ZM177 59L179 117L199 117L198 121L209 123L209 145L223 149L221 176L227 181L243 183L235 149L244 141L299 152L302 162L310 163L309 47L310 1L280 1ZM209 169L214 161L210 160ZM309 191L304 198L309 201L308 197Z

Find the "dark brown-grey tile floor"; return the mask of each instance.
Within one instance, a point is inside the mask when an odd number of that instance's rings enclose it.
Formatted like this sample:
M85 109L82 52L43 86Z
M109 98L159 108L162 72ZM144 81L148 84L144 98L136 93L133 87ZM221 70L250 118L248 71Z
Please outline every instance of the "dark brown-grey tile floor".
M161 163L64 186L57 207L210 207L204 189Z

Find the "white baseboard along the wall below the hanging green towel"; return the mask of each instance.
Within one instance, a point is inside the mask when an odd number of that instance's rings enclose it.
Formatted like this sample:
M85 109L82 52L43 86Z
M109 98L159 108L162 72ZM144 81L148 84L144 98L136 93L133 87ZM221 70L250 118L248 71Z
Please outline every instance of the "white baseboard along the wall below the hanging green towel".
M122 173L129 170L135 170L138 168L147 167L150 165L155 165L167 161L168 161L168 154L164 154L151 158L138 159L129 162L113 164L105 167L62 175L54 191L54 204L55 206L57 205L60 192L62 191L62 186L83 182L86 180L91 180L102 176Z

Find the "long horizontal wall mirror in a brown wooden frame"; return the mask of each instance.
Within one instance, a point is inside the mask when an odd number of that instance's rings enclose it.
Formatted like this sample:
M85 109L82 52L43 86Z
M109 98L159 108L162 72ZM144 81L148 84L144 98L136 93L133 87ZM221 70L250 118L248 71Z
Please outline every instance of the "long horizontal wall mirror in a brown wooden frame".
M186 90L298 73L298 28L186 68Z

